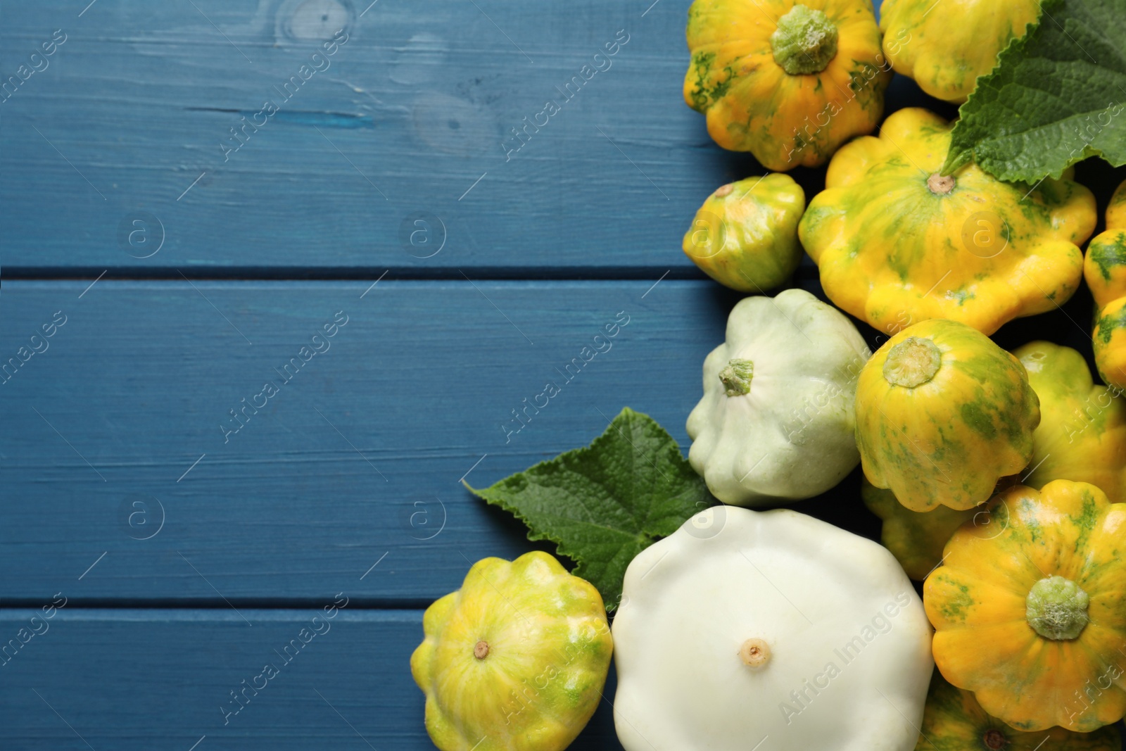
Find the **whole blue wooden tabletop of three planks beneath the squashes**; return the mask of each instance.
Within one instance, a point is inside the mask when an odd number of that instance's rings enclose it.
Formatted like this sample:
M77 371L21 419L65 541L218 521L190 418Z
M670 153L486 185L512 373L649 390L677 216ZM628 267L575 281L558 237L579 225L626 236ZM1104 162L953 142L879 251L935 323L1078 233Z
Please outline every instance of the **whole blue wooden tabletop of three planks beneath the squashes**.
M761 173L681 100L688 0L88 2L0 8L0 748L431 748L422 610L533 547L459 481L624 405L687 448L739 298L680 251ZM878 536L858 483L797 508Z

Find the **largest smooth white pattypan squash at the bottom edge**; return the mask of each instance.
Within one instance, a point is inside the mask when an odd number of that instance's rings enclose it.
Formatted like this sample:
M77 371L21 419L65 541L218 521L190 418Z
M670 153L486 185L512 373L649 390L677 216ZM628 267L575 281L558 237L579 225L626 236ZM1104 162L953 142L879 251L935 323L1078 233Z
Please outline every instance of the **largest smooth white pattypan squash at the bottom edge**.
M697 517L626 570L614 618L626 751L911 751L930 627L895 558L787 509Z

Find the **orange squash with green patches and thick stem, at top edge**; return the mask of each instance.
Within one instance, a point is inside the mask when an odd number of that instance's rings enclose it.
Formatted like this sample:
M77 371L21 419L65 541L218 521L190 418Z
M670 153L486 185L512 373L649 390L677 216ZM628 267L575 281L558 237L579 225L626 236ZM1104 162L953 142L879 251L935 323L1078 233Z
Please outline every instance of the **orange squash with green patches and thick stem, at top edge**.
M823 164L884 113L892 66L870 0L696 0L687 37L685 101L769 170Z

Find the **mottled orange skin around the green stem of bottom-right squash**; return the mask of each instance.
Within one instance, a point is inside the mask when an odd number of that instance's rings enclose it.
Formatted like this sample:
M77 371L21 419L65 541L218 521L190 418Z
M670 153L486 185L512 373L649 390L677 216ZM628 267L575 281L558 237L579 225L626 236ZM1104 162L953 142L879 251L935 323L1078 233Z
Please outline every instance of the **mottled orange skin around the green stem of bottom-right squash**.
M1126 504L1056 480L1010 488L985 510L989 524L955 531L923 584L942 677L1017 730L1117 722L1126 713ZM1046 638L1027 620L1029 591L1049 576L1090 597L1076 638Z

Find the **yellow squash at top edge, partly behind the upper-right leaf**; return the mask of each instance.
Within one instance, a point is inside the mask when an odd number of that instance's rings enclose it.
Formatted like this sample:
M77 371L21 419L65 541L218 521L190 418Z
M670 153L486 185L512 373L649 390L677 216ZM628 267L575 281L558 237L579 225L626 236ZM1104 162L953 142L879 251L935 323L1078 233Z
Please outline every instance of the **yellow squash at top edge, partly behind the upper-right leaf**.
M942 0L937 9L935 0L884 0L884 54L930 96L962 104L1039 12L1037 0Z

